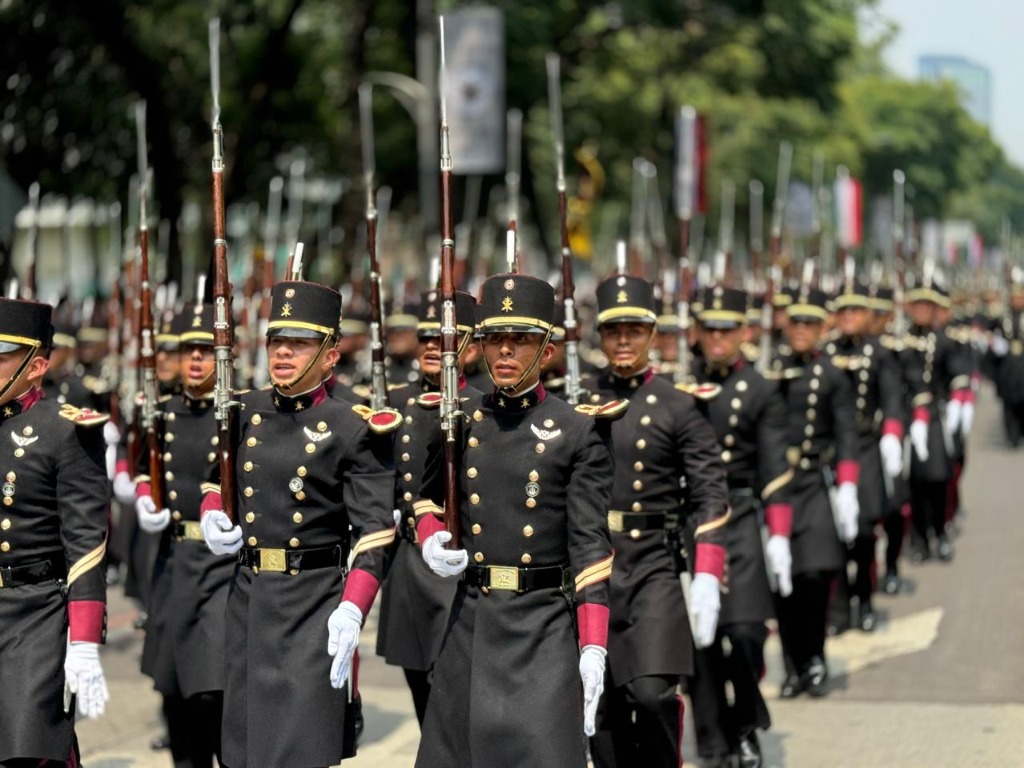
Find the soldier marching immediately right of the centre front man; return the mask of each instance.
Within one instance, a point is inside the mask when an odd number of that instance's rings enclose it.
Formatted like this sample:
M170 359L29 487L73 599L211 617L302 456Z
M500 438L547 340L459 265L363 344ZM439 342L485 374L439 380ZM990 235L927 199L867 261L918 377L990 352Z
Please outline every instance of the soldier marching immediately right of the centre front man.
M610 367L588 381L597 399L626 398L614 422L608 527L615 551L609 585L609 693L592 750L598 768L678 766L682 675L715 638L729 505L721 450L694 398L650 365L655 310L649 283L625 274L597 289L601 349ZM687 519L683 518L683 509ZM679 584L677 544L695 528L690 607ZM689 532L689 530L686 530ZM673 553L675 549L675 553Z

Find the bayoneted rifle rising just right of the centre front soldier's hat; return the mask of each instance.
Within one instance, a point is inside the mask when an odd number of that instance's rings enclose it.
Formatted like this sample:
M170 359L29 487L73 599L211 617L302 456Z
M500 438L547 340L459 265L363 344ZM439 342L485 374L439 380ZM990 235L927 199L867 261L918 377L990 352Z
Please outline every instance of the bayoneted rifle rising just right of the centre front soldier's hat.
M572 249L569 248L568 203L565 196L565 135L562 127L562 88L557 53L549 53L548 109L551 136L555 142L555 186L558 189L558 226L562 247L562 303L565 306L565 399L580 404L580 326L575 312L575 283L572 280Z

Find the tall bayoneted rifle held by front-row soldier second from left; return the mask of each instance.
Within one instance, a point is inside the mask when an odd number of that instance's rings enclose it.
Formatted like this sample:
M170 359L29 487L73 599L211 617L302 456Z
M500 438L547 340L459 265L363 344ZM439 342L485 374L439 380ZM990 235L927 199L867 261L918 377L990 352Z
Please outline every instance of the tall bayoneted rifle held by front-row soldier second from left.
M217 379L213 386L220 458L220 500L224 514L237 521L234 500L234 419L239 402L231 383L234 328L231 284L227 279L227 240L224 234L224 134L220 127L220 19L210 20L210 85L213 94L213 354ZM202 300L202 299L201 299Z

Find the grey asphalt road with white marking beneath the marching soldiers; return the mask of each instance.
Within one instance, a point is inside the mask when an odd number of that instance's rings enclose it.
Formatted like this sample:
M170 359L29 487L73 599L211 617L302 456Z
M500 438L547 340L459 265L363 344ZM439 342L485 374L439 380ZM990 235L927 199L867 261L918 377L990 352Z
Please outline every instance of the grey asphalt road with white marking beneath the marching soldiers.
M766 766L932 768L1024 765L1024 451L1001 441L998 403L986 385L963 483L966 516L952 563L905 562L911 589L879 595L872 634L828 641L833 692L778 699L781 658L774 637L763 689L774 725L762 735ZM111 595L103 654L106 714L82 722L86 768L168 768L150 741L161 731L159 699L138 673L135 607ZM371 615L361 645L374 647ZM412 768L419 728L400 670L364 657L367 730L352 768ZM685 744L694 759L692 728ZM634 768L630 766L629 768Z

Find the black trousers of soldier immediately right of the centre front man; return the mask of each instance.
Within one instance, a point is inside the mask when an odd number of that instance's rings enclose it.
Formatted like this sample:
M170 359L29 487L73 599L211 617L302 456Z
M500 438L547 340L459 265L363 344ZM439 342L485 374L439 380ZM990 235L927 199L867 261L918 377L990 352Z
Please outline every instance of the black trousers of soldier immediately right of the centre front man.
M638 677L610 688L605 683L591 739L595 768L679 768L683 758L683 699L679 679Z

